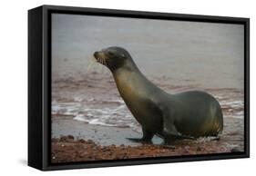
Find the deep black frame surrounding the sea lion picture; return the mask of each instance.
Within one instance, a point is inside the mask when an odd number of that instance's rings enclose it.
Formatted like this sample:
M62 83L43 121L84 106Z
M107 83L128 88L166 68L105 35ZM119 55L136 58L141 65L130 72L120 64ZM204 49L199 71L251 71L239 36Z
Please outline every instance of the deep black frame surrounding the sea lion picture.
M244 25L244 152L52 164L51 14L103 15ZM42 171L250 157L250 19L42 5L28 11L28 165Z

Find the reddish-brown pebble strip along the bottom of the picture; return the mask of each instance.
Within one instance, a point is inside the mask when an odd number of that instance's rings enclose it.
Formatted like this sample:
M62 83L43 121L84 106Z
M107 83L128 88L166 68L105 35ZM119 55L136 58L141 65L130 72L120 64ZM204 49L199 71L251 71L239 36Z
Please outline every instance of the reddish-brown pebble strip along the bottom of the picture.
M72 135L52 139L51 161L53 163L72 161L105 161L123 159L147 159L155 157L189 156L227 152L241 152L236 149L220 148L217 152L210 142L202 146L177 142L175 146L158 144L139 144L137 146L99 145L92 140L75 139Z

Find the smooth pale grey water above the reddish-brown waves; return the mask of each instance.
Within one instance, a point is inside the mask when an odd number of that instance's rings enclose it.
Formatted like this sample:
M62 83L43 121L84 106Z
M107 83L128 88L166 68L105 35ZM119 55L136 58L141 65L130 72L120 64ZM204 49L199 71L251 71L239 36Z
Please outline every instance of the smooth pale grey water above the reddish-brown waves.
M53 78L86 73L88 58L114 45L126 48L149 77L243 90L243 33L242 24L54 14ZM64 59L73 64L64 68Z

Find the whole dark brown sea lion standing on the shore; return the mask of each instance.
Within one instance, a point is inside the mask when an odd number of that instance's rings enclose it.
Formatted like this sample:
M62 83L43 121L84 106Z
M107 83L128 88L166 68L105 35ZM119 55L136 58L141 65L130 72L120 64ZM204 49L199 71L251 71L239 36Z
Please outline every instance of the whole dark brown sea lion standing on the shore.
M121 47L108 47L95 52L94 57L111 71L118 92L141 124L143 137L130 140L151 142L156 134L165 143L171 143L177 139L217 136L222 132L220 103L209 93L164 92L148 81L138 70L128 51Z

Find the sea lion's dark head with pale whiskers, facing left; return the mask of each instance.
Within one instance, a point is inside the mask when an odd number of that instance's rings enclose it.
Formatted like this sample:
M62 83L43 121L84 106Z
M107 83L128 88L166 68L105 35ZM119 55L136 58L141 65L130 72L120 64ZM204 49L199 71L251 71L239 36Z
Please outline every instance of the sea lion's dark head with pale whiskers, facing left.
M104 64L112 72L127 64L130 55L124 48L112 46L94 53L97 63Z

